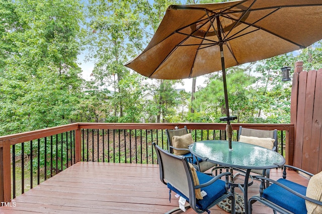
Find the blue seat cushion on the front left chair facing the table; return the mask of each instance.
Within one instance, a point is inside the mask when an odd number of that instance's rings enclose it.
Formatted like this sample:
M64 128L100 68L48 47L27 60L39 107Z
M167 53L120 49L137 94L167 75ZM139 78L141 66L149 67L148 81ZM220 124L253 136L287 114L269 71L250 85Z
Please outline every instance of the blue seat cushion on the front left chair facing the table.
M197 176L199 179L199 183L203 184L211 180L213 177L204 174L202 172L197 172ZM168 188L171 189L172 191L176 192L180 196L184 197L188 202L189 198L182 194L178 189L176 189L174 186L172 186L170 183L168 183ZM197 199L197 206L199 209L206 210L207 207L217 198L219 198L222 194L226 193L226 188L225 188L225 182L223 180L216 180L209 186L205 186L201 188L201 191L207 192L207 195L203 197L203 199L199 200Z

